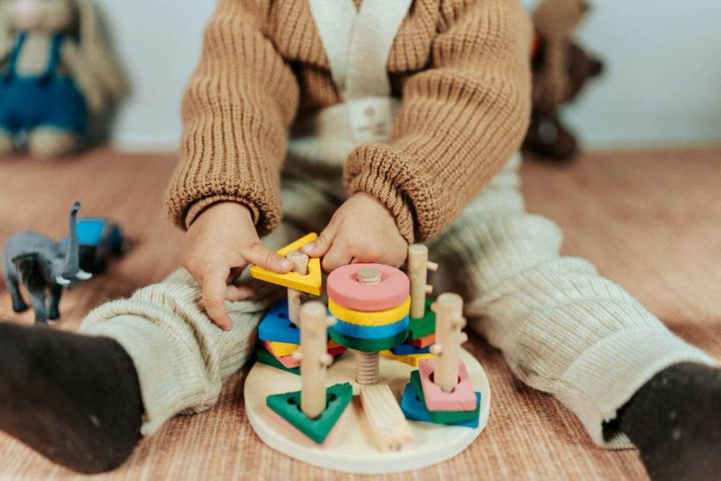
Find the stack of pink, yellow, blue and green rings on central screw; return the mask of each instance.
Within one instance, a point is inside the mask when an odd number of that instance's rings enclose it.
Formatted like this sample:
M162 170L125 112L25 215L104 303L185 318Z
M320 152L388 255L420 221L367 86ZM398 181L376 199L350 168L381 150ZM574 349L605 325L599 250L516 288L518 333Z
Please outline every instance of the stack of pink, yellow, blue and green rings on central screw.
M366 285L358 270L373 268L381 281ZM410 282L396 268L381 264L351 264L328 276L328 309L338 319L329 329L335 342L347 348L375 352L394 348L408 335Z

